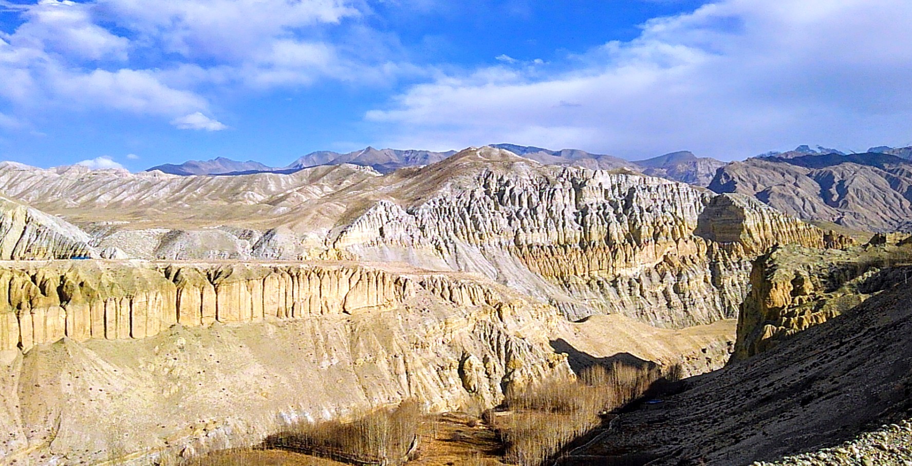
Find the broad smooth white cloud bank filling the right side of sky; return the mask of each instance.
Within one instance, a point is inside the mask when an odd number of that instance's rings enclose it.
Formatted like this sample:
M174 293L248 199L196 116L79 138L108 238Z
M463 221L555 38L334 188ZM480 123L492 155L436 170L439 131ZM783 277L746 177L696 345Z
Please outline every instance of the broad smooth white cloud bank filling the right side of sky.
M906 0L723 0L543 64L551 73L442 76L366 118L396 147L509 141L731 158L805 142L901 143L912 132L910 21Z

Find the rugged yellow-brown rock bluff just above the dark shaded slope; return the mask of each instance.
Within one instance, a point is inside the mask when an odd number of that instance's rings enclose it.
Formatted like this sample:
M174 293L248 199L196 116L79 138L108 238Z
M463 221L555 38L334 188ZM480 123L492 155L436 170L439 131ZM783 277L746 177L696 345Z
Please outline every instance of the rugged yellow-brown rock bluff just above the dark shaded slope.
M819 325L912 278L912 245L864 248L777 247L751 270L732 360L744 360L785 337Z

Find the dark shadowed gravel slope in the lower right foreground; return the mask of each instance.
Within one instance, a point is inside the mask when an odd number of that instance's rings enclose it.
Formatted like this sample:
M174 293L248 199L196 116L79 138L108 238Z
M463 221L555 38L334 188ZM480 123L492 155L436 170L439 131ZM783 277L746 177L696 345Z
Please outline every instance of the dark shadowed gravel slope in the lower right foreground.
M685 380L682 392L622 414L614 429L561 464L746 465L836 447L912 419L910 302L908 287L887 289L787 344ZM897 456L888 444L874 450L876 457Z

